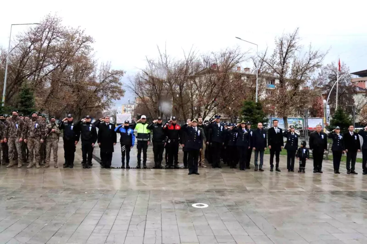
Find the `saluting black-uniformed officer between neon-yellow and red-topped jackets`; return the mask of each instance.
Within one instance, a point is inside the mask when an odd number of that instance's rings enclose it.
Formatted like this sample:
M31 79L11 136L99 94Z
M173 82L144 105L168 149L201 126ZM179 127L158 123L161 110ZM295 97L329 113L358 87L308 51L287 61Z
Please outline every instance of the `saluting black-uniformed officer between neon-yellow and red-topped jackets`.
M153 169L162 169L163 151L164 145L166 145L166 136L164 135L163 126L162 118L158 117L157 120L146 127L150 131L153 131Z

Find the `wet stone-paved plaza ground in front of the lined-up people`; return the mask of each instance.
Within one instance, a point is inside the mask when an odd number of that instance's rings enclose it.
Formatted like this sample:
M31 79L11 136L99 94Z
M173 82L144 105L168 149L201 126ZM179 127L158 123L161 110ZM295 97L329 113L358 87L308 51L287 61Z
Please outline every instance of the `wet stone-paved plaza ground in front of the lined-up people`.
M120 166L119 144L113 157ZM152 158L149 147L148 167ZM314 174L309 160L301 174L280 160L280 173L269 171L269 155L264 172L100 169L95 160L82 169L78 147L74 169L1 166L0 243L367 243L361 164L358 175L347 175L342 163L337 175L325 161L324 173Z

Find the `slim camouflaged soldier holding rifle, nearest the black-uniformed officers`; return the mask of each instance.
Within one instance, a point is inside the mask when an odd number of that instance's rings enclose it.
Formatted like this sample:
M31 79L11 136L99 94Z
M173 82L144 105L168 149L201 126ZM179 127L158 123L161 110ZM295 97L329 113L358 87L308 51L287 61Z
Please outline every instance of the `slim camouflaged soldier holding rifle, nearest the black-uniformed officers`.
M50 118L50 123L46 125L44 130L46 141L46 164L43 166L44 168L50 167L50 157L51 157L51 149L54 153L54 167L58 168L57 164L57 149L58 149L58 138L60 135L60 130L57 124L55 123L55 117Z

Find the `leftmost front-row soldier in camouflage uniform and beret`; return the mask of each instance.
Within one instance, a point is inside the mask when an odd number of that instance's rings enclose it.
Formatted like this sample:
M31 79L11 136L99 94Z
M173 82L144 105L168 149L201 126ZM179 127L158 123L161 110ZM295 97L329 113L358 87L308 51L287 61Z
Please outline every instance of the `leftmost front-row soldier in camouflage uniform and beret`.
M12 117L7 121L7 128L4 136L4 142L8 142L9 160L7 168L14 165L14 151L22 155L22 141L24 136L24 122L19 119L18 111L12 111ZM18 168L22 167L22 160L18 160Z

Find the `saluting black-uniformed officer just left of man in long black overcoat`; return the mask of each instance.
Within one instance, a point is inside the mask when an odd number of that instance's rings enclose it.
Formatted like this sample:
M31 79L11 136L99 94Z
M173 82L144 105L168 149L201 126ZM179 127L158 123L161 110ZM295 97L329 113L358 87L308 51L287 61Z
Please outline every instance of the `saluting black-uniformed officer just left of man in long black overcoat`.
M92 153L94 144L97 141L97 130L91 123L91 117L89 115L78 121L75 126L77 127L77 133L80 133L81 138L83 169L89 169L90 166L92 166Z

